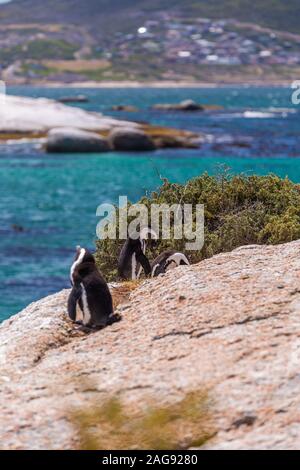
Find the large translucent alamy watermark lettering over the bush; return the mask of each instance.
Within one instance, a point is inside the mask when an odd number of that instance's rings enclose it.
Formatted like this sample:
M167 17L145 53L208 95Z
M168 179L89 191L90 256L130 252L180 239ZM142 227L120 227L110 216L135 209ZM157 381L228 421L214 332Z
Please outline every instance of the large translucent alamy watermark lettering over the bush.
M101 240L136 240L145 228L151 228L151 238L186 240L188 251L201 250L204 245L203 204L128 205L127 196L119 197L118 207L101 204L96 215L101 218L96 234Z

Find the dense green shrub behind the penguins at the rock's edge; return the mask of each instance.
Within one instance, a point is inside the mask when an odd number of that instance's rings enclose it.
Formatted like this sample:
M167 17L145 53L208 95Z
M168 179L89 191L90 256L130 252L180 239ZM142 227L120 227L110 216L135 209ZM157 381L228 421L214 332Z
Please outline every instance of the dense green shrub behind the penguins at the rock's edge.
M186 184L167 180L150 196L141 199L148 208L155 204L204 204L205 245L187 253L192 263L242 245L280 244L300 238L300 186L278 176L219 177L204 174ZM117 278L117 259L124 241L98 240L96 259L108 280ZM186 240L159 240L149 244L153 260L164 249L185 250Z

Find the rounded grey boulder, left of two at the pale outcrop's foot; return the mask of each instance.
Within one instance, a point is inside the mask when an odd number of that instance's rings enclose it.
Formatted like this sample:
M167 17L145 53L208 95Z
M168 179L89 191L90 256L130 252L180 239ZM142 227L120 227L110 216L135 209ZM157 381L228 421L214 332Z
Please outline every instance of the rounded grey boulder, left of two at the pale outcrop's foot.
M48 133L49 153L101 153L109 150L108 142L94 132L63 127Z

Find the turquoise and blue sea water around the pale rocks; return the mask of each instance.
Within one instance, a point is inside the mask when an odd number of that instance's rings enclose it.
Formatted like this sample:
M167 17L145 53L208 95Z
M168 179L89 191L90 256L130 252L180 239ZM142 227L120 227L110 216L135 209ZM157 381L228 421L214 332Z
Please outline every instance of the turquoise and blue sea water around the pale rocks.
M300 182L300 107L284 88L39 89L11 94L59 98L84 93L80 105L122 119L201 131L196 150L102 155L45 155L34 145L0 146L0 321L30 302L69 286L75 246L93 249L97 206L138 200L157 188L159 175L184 182L226 165L232 173L276 173ZM222 111L161 113L155 103L194 99ZM131 104L137 113L110 112ZM23 227L16 231L15 226Z

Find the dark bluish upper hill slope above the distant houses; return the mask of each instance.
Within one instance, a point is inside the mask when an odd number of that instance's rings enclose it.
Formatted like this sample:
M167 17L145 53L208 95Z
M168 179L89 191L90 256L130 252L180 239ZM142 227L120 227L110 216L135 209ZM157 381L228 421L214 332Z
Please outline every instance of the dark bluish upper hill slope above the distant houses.
M158 11L180 11L184 16L235 18L282 31L300 33L299 0L13 0L0 6L5 23L75 23L88 27L132 22Z

